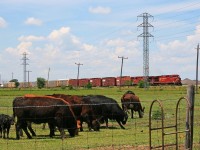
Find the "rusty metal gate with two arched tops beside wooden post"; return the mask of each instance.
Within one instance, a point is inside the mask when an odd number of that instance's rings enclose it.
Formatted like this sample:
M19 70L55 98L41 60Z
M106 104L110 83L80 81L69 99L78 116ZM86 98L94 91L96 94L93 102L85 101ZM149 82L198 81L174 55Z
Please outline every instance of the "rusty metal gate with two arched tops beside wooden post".
M179 105L180 105L180 102L185 100L186 101L186 126L185 126L185 130L184 131L178 131L178 108L179 108ZM157 128L153 128L152 127L152 108L154 106L155 103L158 103L159 104L159 108L161 110L161 127L157 127ZM164 150L165 147L167 146L175 146L176 147L176 150L178 149L178 134L179 133L183 133L185 132L186 133L186 142L187 142L187 136L190 135L191 131L190 131L190 128L189 128L189 116L190 116L190 103L188 101L187 98L185 97L182 97L178 100L177 104L176 104L176 114L175 114L175 123L174 125L172 126L165 126L164 125L164 108L163 108L163 104L160 100L154 100L152 103L151 103L151 106L150 106L150 111L149 111L149 147L150 149L157 149L157 148L160 148L162 150ZM175 132L165 132L165 129L169 129L169 128L174 128L175 129ZM162 145L157 145L157 146L152 146L152 131L161 131L161 134L162 134ZM173 144L167 144L165 143L165 136L167 135L172 135L172 134L175 134L175 143Z

